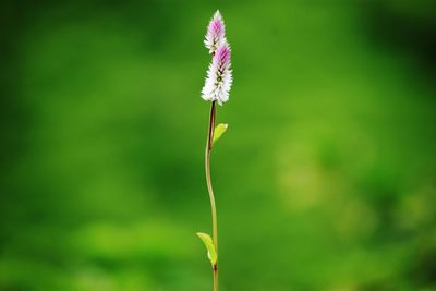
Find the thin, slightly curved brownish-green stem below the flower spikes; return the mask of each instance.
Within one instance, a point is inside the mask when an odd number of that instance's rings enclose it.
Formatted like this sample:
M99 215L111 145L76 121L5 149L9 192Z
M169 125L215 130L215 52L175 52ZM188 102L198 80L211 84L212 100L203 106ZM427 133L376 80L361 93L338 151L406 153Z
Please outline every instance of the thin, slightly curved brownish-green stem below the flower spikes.
M214 190L211 187L210 180L210 151L214 144L214 130L215 130L215 118L216 118L216 104L211 102L210 106L210 116L209 116L209 128L207 132L207 143L206 143L206 153L205 153L205 169L206 169L206 183L207 191L209 192L210 198L210 208L211 208L211 227L213 227L213 240L215 250L218 257L218 221L217 221L217 208L215 205L215 196ZM218 291L218 260L213 266L214 269L214 291Z

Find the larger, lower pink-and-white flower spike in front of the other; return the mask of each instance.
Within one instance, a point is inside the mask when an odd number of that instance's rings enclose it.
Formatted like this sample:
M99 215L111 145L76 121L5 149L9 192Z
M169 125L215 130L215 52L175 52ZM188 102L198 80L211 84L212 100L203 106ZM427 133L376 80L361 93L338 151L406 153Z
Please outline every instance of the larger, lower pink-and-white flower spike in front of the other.
M202 98L218 101L219 105L229 100L229 92L232 85L232 71L230 70L230 46L225 40L215 51L205 85L202 89Z

